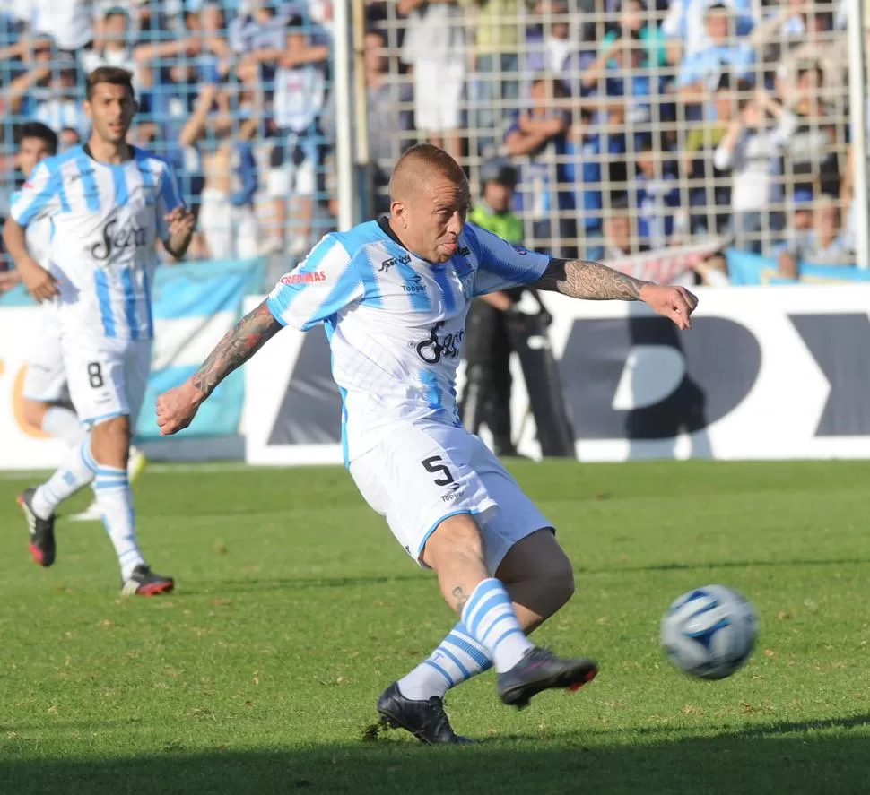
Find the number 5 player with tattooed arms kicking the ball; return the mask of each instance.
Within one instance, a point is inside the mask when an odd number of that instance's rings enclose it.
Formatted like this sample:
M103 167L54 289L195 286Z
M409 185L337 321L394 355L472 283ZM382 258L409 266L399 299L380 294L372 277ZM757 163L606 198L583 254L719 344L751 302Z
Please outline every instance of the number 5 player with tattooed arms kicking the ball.
M387 687L378 712L423 742L464 742L444 713L448 688L494 666L502 702L522 707L542 690L581 687L598 670L528 639L569 600L573 575L552 523L457 420L469 303L531 285L642 300L687 329L697 299L601 264L510 246L465 223L465 175L431 144L405 152L389 188L389 218L326 235L194 376L161 395L157 422L161 434L186 428L214 387L284 325L326 325L352 478L408 554L436 572L459 617L429 659Z

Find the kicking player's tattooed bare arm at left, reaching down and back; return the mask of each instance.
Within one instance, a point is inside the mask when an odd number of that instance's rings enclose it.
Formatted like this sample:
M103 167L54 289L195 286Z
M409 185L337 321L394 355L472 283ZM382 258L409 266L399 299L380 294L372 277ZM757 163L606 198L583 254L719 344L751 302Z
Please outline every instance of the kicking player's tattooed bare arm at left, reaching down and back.
M214 387L248 361L282 328L265 301L239 320L193 376L157 398L157 425L161 436L170 436L187 428L196 416L196 410L214 392Z

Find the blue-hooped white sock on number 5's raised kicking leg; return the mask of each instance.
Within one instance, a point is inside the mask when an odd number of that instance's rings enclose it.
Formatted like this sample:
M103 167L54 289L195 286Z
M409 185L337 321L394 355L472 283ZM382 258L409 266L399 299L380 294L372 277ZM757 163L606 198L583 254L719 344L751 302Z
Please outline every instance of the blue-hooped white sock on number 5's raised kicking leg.
M495 577L483 580L462 609L469 635L490 652L495 670L513 668L533 645L523 632L508 592Z

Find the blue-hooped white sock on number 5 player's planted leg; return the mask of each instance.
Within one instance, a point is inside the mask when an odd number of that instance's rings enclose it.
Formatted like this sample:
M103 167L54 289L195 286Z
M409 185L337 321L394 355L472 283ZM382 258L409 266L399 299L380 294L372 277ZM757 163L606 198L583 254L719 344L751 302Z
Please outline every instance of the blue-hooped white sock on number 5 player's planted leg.
M399 679L399 690L414 701L428 701L432 696L443 698L451 687L491 668L489 652L460 621L427 660Z

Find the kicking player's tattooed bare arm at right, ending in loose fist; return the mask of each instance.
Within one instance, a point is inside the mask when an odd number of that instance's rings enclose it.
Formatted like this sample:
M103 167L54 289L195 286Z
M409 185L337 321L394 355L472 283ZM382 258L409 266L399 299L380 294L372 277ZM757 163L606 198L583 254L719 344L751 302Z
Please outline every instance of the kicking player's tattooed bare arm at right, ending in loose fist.
M588 260L551 259L535 287L593 301L643 301L681 329L692 328L690 318L698 306L698 298L684 287L641 281Z

